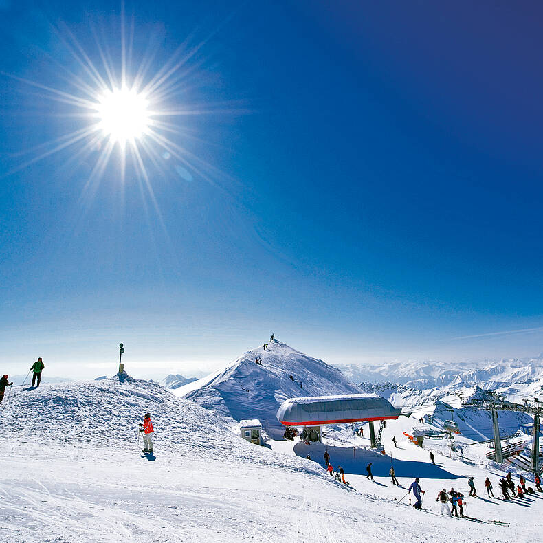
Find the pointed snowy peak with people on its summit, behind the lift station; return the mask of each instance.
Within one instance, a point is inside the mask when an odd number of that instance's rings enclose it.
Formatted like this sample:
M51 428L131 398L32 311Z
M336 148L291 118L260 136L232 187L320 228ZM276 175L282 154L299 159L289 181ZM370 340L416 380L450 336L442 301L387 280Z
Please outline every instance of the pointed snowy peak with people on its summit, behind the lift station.
M255 363L259 357L261 365ZM278 341L269 343L269 351L247 351L225 370L174 391L237 421L260 419L273 436L284 431L276 412L285 399L359 392L339 370Z

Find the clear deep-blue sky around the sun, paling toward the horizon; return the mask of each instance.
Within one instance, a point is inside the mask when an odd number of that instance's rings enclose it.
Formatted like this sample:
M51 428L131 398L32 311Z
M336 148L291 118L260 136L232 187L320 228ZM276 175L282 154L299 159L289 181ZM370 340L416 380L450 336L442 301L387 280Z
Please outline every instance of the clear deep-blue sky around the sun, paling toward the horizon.
M2 371L543 351L540 2L124 9L0 0ZM146 175L69 144L122 43L127 85L169 74Z

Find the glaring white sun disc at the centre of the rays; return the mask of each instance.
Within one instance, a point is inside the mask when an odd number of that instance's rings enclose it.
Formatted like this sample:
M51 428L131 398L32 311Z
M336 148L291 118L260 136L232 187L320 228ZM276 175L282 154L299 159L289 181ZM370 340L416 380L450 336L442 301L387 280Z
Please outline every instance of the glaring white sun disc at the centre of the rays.
M108 89L99 96L96 109L98 127L112 143L124 146L148 133L148 100L136 89Z

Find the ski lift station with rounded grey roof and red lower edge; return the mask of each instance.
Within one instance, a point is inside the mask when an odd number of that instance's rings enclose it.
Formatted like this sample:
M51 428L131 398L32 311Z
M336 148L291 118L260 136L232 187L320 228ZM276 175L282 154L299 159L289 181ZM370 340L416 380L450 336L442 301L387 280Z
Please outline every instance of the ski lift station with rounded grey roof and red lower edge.
M353 394L290 398L281 404L277 419L285 426L303 426L308 441L321 441L322 425L370 422L373 434L373 421L397 419L400 414L401 409L376 394Z

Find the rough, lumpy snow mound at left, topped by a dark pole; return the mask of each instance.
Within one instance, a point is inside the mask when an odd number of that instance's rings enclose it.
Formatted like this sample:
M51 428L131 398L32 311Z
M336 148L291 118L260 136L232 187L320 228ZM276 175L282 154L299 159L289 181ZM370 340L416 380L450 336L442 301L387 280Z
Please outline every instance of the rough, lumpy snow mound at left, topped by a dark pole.
M110 454L140 450L138 423L146 412L151 413L157 454L235 458L322 476L316 465L247 443L232 433L236 421L230 417L218 416L159 384L126 373L100 381L16 387L2 404L0 424L5 436L19 443L49 443L51 447L71 443Z

